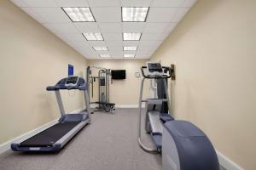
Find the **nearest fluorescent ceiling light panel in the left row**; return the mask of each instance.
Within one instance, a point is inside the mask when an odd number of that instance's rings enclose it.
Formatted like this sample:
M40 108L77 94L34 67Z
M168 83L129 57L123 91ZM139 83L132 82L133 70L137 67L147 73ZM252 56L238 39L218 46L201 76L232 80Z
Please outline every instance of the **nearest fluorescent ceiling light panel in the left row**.
M73 22L95 22L89 7L63 7L62 9Z

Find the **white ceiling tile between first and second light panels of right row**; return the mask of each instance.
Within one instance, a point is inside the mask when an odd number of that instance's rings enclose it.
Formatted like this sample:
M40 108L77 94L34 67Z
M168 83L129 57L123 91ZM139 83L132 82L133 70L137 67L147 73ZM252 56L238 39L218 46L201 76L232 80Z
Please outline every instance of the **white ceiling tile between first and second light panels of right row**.
M145 22L123 22L123 32L143 32Z

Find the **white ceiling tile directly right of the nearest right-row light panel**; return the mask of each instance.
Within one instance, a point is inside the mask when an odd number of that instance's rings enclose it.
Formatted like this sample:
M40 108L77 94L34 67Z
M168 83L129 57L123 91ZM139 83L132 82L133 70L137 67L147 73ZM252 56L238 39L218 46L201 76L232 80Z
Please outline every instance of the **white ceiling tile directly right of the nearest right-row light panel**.
M171 22L177 8L150 8L148 13L148 22Z

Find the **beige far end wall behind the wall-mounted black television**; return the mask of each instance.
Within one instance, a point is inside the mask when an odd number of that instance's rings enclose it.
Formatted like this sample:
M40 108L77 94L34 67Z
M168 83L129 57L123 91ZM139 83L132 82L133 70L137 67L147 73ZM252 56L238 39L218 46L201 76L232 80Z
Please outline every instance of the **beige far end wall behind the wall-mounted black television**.
M90 66L104 67L112 70L126 70L125 80L113 80L110 84L110 102L116 105L138 105L140 83L142 77L135 77L137 71L140 72L140 67L145 65L148 59L90 59ZM92 70L94 76L97 76L96 70ZM148 94L148 82L145 83L144 94ZM91 101L98 100L97 83L94 84L94 98ZM144 95L147 97L147 95Z

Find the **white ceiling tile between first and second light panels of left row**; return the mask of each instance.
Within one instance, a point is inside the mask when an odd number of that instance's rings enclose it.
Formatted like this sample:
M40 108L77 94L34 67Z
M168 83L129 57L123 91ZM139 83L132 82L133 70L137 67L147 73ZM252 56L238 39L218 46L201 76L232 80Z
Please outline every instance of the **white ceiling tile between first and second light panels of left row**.
M100 32L96 22L75 22L73 25L81 32Z

